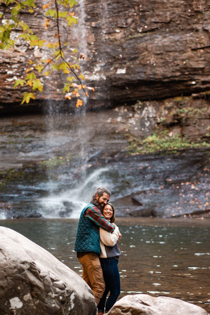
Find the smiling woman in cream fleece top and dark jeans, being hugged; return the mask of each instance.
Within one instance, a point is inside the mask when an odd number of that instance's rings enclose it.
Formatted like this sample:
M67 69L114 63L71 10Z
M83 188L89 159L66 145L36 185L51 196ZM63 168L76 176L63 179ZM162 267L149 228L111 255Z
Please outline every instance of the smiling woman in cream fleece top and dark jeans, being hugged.
M107 203L103 209L104 217L111 223L114 223L114 214L115 209L113 205L111 203ZM121 253L117 241L121 238L121 234L118 227L115 224L113 225L115 226L115 230L112 233L105 231L101 227L99 229L101 248L101 255L99 259L106 287L98 304L98 315L104 314L104 308L106 313L109 312L120 294L120 274L117 264ZM106 301L106 296L109 291L110 295Z

